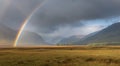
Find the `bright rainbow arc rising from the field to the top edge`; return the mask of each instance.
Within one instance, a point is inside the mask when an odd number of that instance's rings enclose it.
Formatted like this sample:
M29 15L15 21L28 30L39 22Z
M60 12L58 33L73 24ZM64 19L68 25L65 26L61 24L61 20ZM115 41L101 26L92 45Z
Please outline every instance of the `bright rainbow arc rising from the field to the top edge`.
M20 30L19 30L18 33L17 33L17 36L16 36L16 38L15 38L13 47L17 47L19 38L20 38L20 36L21 36L21 34L22 34L25 26L26 26L27 23L30 21L30 19L32 18L32 16L38 11L38 9L40 9L40 8L42 7L42 5L45 4L46 1L47 1L47 0L45 0L45 1L44 1L42 4L40 4L39 6L37 6L37 7L32 11L32 13L24 20L24 22L23 22Z

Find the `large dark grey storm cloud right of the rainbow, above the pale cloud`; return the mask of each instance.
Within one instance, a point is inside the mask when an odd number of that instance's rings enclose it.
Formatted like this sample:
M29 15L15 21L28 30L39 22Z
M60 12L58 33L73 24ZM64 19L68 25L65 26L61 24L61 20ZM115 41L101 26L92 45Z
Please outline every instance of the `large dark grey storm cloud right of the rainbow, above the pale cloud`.
M72 25L80 20L120 15L120 0L48 0L32 17L32 25L44 29Z

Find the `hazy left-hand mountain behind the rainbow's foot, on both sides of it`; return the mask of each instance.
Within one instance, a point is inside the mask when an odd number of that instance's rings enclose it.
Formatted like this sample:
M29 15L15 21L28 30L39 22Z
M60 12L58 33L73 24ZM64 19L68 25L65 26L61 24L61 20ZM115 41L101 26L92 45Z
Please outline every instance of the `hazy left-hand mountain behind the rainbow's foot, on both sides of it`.
M13 45L17 31L13 30L4 24L0 24L0 45ZM43 38L35 32L24 31L19 40L19 44L47 44Z

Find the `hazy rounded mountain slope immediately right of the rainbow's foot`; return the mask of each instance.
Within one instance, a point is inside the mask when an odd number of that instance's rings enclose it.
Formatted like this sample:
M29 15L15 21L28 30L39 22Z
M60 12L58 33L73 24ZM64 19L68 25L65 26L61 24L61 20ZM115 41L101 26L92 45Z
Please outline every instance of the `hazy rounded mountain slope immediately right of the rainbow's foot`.
M19 39L21 45L46 45L44 39L35 32L24 31Z

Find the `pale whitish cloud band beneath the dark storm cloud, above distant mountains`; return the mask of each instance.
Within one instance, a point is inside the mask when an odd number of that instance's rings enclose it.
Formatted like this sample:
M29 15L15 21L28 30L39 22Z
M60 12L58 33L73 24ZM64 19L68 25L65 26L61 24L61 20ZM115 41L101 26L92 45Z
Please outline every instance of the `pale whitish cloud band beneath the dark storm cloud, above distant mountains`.
M71 36L79 36L79 35L88 35L92 32L99 31L101 29L105 28L105 26L102 25L84 25L84 26L65 26L61 27L52 33L43 33L40 34L44 39L51 44L55 44L59 42L63 38L68 38Z

